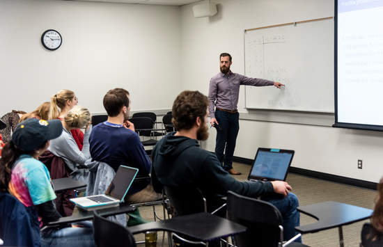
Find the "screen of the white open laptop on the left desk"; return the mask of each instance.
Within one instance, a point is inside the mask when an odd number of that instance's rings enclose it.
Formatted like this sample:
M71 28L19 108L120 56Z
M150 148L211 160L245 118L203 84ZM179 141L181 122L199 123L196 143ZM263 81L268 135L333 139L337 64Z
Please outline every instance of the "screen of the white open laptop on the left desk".
M137 168L131 168L129 166L118 167L116 175L111 181L111 184L109 184L105 194L113 198L123 200L137 173Z

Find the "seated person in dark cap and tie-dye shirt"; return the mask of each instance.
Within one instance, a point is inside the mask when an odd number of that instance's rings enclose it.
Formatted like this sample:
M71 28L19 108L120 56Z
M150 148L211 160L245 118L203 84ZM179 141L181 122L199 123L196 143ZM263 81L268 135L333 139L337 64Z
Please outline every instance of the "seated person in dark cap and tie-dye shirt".
M17 126L11 141L2 150L0 189L8 189L25 207L29 207L31 219L36 221L32 225L36 228L61 217L54 207L56 195L49 172L38 161L38 156L47 150L49 140L60 136L62 131L59 120L25 120ZM90 225L88 228L45 228L40 232L41 246L94 246Z

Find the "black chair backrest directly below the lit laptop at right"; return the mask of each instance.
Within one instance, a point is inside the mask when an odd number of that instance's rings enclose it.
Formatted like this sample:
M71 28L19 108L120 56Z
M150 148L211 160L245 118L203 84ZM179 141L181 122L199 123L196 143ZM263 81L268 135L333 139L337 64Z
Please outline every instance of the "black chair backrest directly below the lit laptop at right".
M240 196L228 191L228 219L247 227L234 236L237 246L278 246L282 224L279 210L269 202Z

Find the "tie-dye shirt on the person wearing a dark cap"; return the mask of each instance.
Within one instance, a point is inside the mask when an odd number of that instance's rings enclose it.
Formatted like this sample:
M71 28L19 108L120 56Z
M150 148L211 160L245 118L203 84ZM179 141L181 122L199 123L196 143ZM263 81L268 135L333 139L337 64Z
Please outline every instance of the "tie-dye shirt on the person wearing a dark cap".
M39 205L56 199L50 180L49 171L41 161L22 154L13 166L9 191L25 207Z

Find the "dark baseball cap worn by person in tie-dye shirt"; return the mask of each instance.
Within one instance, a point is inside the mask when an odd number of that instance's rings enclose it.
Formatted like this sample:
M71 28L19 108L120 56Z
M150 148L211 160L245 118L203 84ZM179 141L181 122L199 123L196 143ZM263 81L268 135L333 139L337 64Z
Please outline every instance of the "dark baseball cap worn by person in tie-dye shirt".
M60 120L38 120L30 118L20 122L12 134L12 141L17 148L33 151L44 143L57 138L63 132Z

